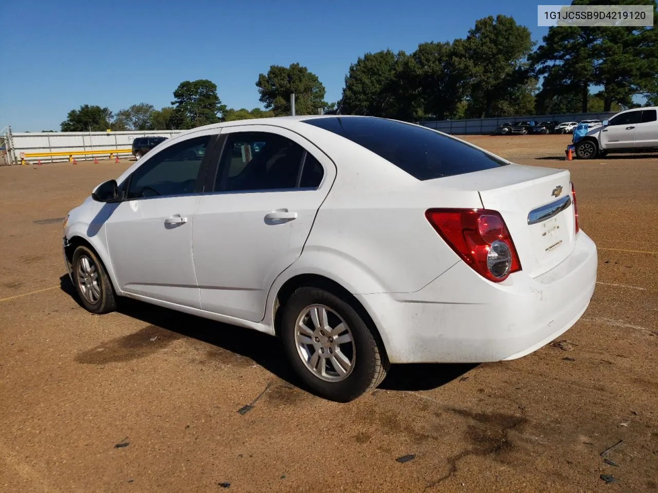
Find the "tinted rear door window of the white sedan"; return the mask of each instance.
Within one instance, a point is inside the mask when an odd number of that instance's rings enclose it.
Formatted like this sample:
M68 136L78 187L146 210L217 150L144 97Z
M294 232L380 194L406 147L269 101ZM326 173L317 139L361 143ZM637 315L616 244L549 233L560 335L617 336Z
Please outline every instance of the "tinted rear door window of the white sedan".
M226 138L215 191L318 187L323 175L311 154L282 135L235 132Z

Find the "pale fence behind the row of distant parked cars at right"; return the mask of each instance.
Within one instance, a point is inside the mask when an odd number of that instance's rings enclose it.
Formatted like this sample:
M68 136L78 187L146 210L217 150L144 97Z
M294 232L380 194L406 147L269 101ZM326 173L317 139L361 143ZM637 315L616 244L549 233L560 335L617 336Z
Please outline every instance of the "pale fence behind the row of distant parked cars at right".
M544 114L535 116L505 116L501 118L472 118L470 120L441 120L432 122L418 122L418 124L455 135L467 133L493 133L497 126L507 122L582 122L582 120L607 120L615 114L601 113L569 113Z

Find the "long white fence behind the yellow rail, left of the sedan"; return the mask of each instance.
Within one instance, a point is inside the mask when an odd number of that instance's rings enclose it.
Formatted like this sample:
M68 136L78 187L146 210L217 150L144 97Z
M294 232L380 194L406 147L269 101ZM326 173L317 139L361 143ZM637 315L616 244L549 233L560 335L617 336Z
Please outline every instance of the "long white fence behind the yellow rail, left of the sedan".
M123 155L130 154L132 141L136 137L160 135L171 138L183 130L153 130L153 131L111 131L111 132L20 132L5 135L7 145L7 164L20 164L21 154L31 153L68 153L89 151L89 154L75 156L76 160L91 160L95 157L106 157L109 151L119 149ZM97 151L94 153L93 151ZM114 153L116 154L116 153ZM55 162L68 161L67 155L24 157L25 162Z

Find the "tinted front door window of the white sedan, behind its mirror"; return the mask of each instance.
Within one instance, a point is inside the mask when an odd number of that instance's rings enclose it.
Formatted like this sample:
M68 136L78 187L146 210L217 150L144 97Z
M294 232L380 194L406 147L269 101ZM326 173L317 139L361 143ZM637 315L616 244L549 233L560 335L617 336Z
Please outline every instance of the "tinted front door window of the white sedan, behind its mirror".
M130 178L128 199L193 193L210 135L195 137L149 153Z

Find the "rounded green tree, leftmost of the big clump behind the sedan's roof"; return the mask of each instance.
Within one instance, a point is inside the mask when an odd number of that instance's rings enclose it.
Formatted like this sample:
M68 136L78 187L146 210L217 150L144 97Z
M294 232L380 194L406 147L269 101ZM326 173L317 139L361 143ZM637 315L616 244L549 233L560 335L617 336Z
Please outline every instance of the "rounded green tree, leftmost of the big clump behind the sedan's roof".
M343 114L395 118L399 113L402 78L411 70L405 66L404 51L395 54L390 49L366 53L349 66L343 89Z

